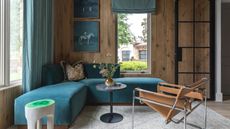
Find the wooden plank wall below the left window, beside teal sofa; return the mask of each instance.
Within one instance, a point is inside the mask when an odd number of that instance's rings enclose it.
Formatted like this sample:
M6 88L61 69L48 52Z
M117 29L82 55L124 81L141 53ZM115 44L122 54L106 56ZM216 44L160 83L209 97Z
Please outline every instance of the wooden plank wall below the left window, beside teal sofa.
M0 129L7 129L14 123L14 99L22 93L21 86L0 90Z

